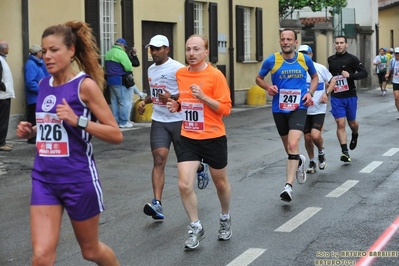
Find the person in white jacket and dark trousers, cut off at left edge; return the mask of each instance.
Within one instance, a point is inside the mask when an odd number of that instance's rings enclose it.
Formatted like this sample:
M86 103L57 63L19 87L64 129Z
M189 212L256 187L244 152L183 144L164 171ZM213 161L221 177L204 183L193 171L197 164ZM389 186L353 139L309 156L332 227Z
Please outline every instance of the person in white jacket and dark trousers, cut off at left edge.
M11 98L15 98L14 82L7 63L7 41L0 40L0 151L11 151L12 146L6 143L8 123L10 120Z

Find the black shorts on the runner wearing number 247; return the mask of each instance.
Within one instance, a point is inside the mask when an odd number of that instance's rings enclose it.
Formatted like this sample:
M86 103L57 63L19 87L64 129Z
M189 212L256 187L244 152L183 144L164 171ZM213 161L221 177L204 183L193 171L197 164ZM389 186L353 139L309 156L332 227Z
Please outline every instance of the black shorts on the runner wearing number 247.
M273 113L274 123L276 124L280 136L288 135L290 130L303 131L306 123L308 110L299 109L291 113Z

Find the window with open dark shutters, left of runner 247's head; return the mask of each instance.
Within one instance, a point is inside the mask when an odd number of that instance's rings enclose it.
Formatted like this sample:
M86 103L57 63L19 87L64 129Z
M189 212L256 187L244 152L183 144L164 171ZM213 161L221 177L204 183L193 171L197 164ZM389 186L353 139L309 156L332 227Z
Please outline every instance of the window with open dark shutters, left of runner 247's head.
M263 60L262 8L236 6L237 62Z

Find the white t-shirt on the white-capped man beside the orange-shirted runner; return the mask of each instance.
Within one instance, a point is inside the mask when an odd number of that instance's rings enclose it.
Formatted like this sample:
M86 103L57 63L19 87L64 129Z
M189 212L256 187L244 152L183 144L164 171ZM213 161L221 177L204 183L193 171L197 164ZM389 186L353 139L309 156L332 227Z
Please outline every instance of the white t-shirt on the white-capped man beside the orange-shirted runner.
M169 112L166 104L161 102L158 97L158 93L165 93L164 89L170 92L171 95L179 93L176 71L181 67L184 67L184 65L169 58L162 65L154 63L148 68L148 83L150 85L152 100L152 120L158 122L177 122L182 120L179 112Z

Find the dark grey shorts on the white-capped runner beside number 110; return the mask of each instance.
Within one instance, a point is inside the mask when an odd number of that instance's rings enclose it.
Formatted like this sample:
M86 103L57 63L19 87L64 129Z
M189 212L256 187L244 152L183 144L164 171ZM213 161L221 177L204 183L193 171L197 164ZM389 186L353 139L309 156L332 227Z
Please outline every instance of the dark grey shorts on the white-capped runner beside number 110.
M176 152L177 141L180 139L181 123L181 121L164 123L152 120L150 133L151 151L158 148L169 149L170 144L173 142Z

